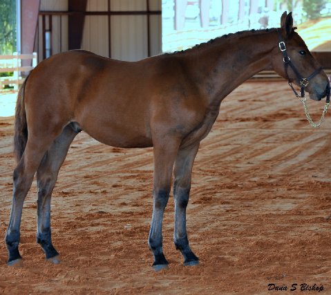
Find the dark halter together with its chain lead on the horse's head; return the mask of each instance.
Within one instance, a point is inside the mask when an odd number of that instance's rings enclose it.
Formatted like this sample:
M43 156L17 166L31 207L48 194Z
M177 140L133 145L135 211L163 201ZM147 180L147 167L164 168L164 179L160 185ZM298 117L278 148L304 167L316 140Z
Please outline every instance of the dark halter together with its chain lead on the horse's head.
M281 52L283 53L283 62L284 62L285 75L286 75L286 78L287 78L287 82L290 85L290 87L291 87L292 91L294 92L295 96L297 98L303 98L303 99L301 99L301 102L303 103L303 108L305 109L305 116L307 117L308 122L310 123L310 125L312 125L312 127L314 127L314 128L317 128L317 127L322 125L324 116L325 116L326 112L328 111L328 107L330 105L330 92L331 92L330 91L330 83L328 84L328 86L325 89L326 100L325 100L325 105L324 105L324 108L323 108L323 113L322 113L321 119L319 120L319 123L316 124L316 123L313 122L312 117L310 116L309 111L308 111L308 106L307 106L307 102L306 102L307 98L305 96L305 87L307 87L308 84L309 84L309 81L312 80L312 78L314 78L314 76L317 75L322 70L322 67L320 66L319 69L316 69L307 78L303 78L303 76L300 75L299 71L296 69L296 67L292 63L290 57L287 55L286 45L285 45L285 42L284 42L284 39L283 39L283 36L282 36L280 30L277 29L277 32L278 32L278 39L279 39L278 46L279 46L279 49L281 49ZM296 75L296 79L298 80L298 82L300 84L300 96L296 92L296 90L294 89L294 87L292 85L292 82L290 80L290 77L288 76L288 73L287 73L288 66L290 66L292 71L294 71L294 73Z

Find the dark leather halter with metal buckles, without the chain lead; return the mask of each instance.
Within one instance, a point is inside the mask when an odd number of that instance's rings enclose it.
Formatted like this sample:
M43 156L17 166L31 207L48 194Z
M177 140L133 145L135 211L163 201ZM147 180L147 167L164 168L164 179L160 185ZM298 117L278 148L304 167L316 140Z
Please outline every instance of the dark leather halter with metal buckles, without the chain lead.
M322 67L320 66L319 69L316 69L307 78L303 78L303 76L299 73L299 71L296 69L296 67L290 60L290 57L287 55L286 45L285 45L283 36L281 34L281 31L277 29L277 32L278 32L278 39L279 39L278 46L279 46L279 49L281 49L281 52L283 53L283 62L284 62L285 75L287 78L287 82L290 85L290 87L292 88L296 97L304 98L305 97L305 87L307 87L309 84L309 81L312 80L312 78L314 78L314 76L317 75L322 70ZM292 71L294 71L294 73L296 75L296 79L298 80L298 82L300 84L300 96L294 89L292 82L290 80L290 77L288 76L288 73L287 73L288 66L290 66ZM330 102L330 83L326 87L326 101L325 102Z

